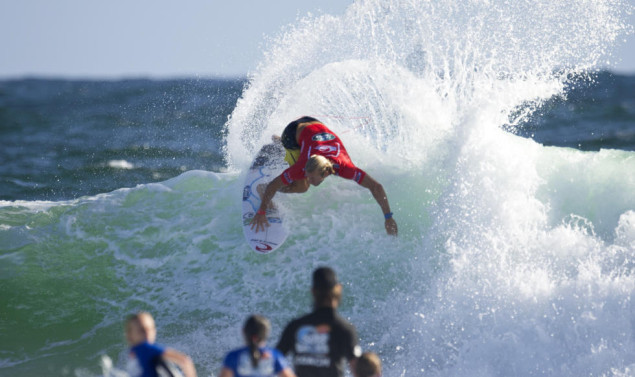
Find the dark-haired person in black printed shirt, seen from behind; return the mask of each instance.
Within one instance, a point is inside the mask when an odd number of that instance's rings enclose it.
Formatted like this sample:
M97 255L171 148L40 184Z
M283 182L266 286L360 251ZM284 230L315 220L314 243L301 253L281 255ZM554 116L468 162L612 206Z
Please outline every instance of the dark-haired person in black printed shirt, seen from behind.
M298 376L341 377L344 360L353 370L355 359L362 352L355 328L337 313L342 285L335 271L329 267L313 271L311 292L313 312L291 321L276 348L283 354L294 354Z

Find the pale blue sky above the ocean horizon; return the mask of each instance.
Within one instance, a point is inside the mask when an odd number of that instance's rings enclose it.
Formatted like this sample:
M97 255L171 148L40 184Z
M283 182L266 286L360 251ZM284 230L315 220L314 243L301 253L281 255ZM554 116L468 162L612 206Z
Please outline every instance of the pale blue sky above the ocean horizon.
M267 37L309 12L339 15L352 3L2 0L0 79L244 77L257 67ZM635 36L613 56L613 71L635 74Z

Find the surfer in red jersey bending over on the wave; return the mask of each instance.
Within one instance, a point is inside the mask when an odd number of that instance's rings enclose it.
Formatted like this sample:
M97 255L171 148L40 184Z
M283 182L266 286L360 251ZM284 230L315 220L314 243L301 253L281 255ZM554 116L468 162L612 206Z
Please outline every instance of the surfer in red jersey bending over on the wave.
M256 232L269 225L266 209L276 192L303 193L310 185L319 186L329 175L352 179L367 188L384 213L384 227L389 235L397 235L397 222L390 211L384 187L351 161L344 144L322 122L302 117L287 125L280 137L286 150L289 168L274 178L261 193L260 208L251 228Z

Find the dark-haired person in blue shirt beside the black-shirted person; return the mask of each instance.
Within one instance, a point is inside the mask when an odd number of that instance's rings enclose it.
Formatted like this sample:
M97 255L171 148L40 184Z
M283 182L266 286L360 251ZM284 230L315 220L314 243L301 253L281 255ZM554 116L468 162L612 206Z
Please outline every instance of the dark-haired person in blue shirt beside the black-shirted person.
M270 330L265 317L247 318L243 326L247 345L225 356L219 377L296 377L284 356L266 346Z

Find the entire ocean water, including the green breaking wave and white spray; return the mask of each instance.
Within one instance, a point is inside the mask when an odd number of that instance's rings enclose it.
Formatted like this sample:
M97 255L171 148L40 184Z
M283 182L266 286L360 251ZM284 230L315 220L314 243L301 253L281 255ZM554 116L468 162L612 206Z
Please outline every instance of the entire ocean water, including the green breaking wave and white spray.
M113 375L137 310L216 375L247 315L275 344L310 310L320 265L387 377L635 375L635 77L597 69L629 11L367 0L245 80L1 82L0 375ZM329 179L248 248L245 169L301 115L383 183L397 239Z

